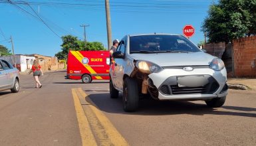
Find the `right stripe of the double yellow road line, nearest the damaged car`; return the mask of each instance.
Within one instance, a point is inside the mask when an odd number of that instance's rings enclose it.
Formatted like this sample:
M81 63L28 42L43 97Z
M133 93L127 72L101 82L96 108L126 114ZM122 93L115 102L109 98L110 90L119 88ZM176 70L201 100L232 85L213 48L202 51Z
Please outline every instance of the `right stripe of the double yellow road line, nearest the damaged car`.
M90 108L90 110L85 110L85 113L86 115L88 115L88 121L91 124L90 126L93 127L92 129L97 130L97 133L94 132L94 134L99 135L104 143L108 143L107 145L128 145L124 137L122 137L122 135L117 131L114 125L112 125L106 115L104 115L104 113L102 113L102 111L97 108L92 100L88 98L87 94L82 90L82 88L78 88L77 91L82 97L80 98L80 100L85 100L86 102L88 102L86 106ZM93 120L89 117L92 117Z

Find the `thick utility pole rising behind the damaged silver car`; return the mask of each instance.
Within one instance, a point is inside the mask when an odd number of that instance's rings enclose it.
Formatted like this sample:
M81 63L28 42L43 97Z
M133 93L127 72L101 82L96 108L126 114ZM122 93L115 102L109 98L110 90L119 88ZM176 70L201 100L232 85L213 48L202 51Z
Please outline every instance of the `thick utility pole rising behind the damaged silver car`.
M109 0L105 0L105 9L106 9L106 30L108 33L108 50L112 46L112 34L111 34L111 21L110 21L110 8L109 8Z

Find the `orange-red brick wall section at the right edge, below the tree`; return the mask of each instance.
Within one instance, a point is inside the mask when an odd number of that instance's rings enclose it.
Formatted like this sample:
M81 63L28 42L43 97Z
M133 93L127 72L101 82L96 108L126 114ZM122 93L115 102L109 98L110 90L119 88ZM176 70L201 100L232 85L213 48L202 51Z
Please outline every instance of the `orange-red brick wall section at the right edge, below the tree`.
M256 36L233 40L233 76L256 76Z

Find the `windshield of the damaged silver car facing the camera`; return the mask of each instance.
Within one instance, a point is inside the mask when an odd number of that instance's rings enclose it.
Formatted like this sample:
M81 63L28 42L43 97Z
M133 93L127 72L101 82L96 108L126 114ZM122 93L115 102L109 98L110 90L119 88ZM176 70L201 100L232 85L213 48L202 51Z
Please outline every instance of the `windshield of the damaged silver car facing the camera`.
M181 35L130 36L130 53L199 52L188 38Z

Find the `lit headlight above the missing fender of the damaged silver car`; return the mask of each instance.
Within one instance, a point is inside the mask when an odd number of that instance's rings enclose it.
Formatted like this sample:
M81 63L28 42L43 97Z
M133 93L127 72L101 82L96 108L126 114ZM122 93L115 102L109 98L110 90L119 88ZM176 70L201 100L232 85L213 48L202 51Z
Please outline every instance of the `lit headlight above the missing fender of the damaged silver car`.
M163 69L157 64L144 60L138 60L136 62L136 67L140 70L140 72L144 72L146 74L160 72Z

